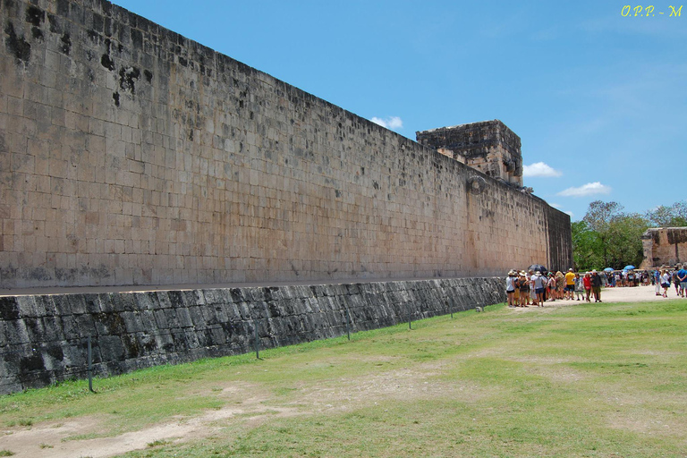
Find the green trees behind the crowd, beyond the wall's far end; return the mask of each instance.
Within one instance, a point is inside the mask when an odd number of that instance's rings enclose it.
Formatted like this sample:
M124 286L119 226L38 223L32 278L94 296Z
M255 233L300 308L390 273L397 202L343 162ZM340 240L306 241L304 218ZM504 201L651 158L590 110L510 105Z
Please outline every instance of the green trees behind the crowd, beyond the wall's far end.
M617 202L595 200L587 214L572 224L573 260L577 270L639 267L644 259L641 234L649 227L687 226L687 200L644 214L625 213Z

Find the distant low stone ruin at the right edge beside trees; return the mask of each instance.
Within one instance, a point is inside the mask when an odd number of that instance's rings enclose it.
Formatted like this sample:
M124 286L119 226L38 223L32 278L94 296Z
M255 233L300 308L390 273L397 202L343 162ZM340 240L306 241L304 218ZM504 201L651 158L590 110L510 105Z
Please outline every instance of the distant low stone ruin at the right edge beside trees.
M687 262L687 227L654 227L641 236L641 268L674 267Z

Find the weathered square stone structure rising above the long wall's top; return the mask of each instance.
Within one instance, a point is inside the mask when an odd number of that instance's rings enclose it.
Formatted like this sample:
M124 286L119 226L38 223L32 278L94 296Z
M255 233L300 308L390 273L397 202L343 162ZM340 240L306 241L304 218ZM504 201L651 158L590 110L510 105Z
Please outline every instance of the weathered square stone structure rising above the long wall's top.
M495 119L415 132L420 145L470 165L483 174L522 187L520 137Z

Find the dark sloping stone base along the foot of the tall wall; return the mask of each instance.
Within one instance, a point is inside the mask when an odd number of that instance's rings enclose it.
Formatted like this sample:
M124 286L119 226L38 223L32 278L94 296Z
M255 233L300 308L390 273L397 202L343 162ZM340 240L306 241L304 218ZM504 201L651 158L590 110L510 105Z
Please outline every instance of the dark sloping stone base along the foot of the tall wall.
M0 297L0 394L252 352L505 301L501 278Z

